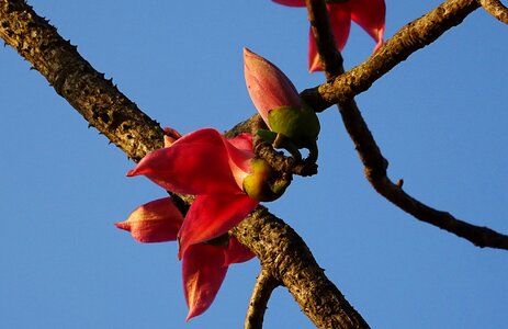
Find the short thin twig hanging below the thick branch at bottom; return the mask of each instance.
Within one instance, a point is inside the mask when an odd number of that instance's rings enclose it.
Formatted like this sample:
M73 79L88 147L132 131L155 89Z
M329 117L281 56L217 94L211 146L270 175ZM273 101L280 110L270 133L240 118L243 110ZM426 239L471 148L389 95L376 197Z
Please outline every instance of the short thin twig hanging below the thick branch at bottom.
M263 327L264 311L267 310L268 300L274 288L280 285L279 281L273 277L261 264L261 272L256 280L256 285L250 296L249 307L245 319L245 329L261 329Z

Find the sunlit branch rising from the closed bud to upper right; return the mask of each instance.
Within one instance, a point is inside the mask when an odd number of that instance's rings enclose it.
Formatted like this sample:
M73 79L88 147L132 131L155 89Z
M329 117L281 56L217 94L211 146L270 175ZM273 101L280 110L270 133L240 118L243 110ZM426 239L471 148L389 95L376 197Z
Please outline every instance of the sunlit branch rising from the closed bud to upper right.
M379 78L418 49L460 24L479 4L476 0L450 0L400 29L368 60L327 83L306 89L301 95L317 112L348 101L368 90ZM320 21L319 21L320 22Z

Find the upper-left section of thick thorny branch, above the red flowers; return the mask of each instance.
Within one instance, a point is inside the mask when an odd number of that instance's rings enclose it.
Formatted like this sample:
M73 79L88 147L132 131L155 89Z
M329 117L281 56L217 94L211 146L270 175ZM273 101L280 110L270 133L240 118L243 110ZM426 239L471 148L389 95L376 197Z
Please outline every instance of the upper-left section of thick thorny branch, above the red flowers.
M163 131L24 1L0 1L0 37L135 161L162 147ZM143 123L143 124L139 124Z

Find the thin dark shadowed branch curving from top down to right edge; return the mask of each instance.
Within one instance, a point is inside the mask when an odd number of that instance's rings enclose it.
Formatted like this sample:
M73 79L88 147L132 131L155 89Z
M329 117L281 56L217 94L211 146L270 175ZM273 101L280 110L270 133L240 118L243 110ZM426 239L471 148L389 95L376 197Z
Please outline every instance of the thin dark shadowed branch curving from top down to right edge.
M466 3L467 1L463 2ZM336 47L328 20L315 19L326 14L325 2L323 0L307 0L307 7L309 20L313 22L313 32L317 36L318 50L324 54L331 54L331 56L321 56L321 59L325 61L324 66L327 68L327 77L337 76L343 72L343 68L338 67L338 63L328 63L331 60L341 63L341 59L337 59L337 56L334 56L334 52L328 49L328 47ZM443 4L438 7L438 9L441 7ZM439 11L438 9L432 12ZM456 7L456 10L460 10L460 7ZM387 46L385 45L383 48ZM334 71L330 71L329 68L332 68ZM508 249L508 236L498 234L487 227L471 225L453 217L447 212L433 209L407 194L402 189L402 182L394 184L386 173L388 162L375 143L353 97L349 100L339 100L338 105L345 127L363 162L365 177L381 195L414 217L448 230L471 241L475 246Z

